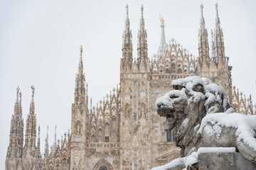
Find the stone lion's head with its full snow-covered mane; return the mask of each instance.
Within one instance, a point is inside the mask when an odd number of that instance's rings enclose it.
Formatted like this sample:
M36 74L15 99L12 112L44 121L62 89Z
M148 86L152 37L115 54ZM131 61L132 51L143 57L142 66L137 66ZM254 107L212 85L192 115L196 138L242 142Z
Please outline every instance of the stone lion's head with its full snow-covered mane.
M166 131L176 128L176 143L186 155L185 147L198 142L192 137L206 114L234 111L225 90L209 79L186 77L172 81L172 86L173 91L156 100L157 113L166 117Z

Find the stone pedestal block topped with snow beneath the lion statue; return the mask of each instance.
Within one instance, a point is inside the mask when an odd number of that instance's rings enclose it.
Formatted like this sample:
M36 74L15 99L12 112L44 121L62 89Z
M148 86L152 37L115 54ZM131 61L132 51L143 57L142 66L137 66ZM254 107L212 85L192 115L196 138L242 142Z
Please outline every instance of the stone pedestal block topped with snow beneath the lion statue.
M256 169L256 164L235 152L234 147L202 147L198 149L198 169L251 170Z

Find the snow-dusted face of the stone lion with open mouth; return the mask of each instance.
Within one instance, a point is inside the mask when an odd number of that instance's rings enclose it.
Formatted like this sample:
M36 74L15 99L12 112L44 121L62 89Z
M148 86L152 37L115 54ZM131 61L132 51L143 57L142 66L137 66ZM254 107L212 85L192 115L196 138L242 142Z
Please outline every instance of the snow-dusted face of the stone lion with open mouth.
M176 127L183 120L181 115L184 115L185 118L188 101L184 90L170 91L165 96L159 98L156 103L157 113L166 117L164 130L170 131Z

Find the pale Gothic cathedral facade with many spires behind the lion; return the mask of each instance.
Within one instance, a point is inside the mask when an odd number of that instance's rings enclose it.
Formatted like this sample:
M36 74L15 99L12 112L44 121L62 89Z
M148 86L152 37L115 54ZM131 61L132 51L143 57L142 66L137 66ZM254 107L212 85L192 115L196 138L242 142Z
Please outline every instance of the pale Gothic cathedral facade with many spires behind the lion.
M36 134L36 114L33 101L26 120L25 139L21 91L17 89L14 115L11 118L6 170L58 169L58 170L146 170L166 164L180 157L172 132L165 132L164 118L156 113L155 101L171 90L174 79L200 76L223 86L230 103L240 113L255 114L251 98L239 94L232 86L229 58L225 56L223 30L220 27L218 5L215 28L211 32L211 55L208 31L201 5L198 30L197 59L186 48L171 40L166 43L164 18L161 23L159 52L148 57L147 33L143 6L137 35L137 59L132 56L132 30L129 13L122 35L120 84L107 94L97 106L88 100L88 88L83 72L82 47L78 74L75 77L75 98L72 104L71 132L61 140L54 140L49 149L48 135L44 153L40 149L40 128ZM36 144L36 136L38 137ZM23 144L23 141L25 142Z

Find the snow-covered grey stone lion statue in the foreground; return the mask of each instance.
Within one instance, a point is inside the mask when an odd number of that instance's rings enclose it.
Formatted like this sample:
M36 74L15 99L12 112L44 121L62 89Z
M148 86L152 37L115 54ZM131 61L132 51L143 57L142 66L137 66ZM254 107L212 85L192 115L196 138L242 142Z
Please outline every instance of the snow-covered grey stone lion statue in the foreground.
M157 99L157 113L166 117L164 129L174 130L181 157L199 147L235 147L256 162L256 115L234 113L225 90L209 79L186 77L172 86Z

